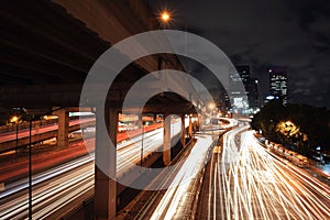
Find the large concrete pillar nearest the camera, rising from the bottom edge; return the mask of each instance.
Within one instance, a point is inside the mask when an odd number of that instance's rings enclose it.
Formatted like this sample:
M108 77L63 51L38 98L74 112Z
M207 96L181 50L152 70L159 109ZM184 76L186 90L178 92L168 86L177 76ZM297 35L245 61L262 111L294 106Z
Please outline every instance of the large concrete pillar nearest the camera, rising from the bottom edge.
M95 166L95 215L96 219L114 219L117 208L117 131L118 111L106 108L105 116L96 113L96 166ZM106 122L107 132L100 132L101 121ZM107 141L110 136L114 147ZM100 165L102 169L100 168ZM112 177L112 178L111 178Z

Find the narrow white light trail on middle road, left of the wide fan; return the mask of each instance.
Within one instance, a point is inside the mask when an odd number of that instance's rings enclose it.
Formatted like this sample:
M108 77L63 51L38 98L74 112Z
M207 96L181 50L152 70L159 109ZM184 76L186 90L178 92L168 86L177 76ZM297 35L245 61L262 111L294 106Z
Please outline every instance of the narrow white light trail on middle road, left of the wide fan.
M230 127L237 125L235 120L230 120ZM240 128L240 131L244 130L244 128ZM205 165L208 163L210 151L213 150L215 144L218 142L218 135L222 134L224 130L220 131L218 125L207 127L207 130L198 132L195 135L197 139L197 143L195 143L189 156L184 161L184 165L180 167L179 172L176 174L173 183L169 185L169 188L166 190L165 195L162 197L158 202L156 209L150 219L161 220L161 219L190 219L189 216L193 211L194 201L196 200L196 189L194 186L196 182L199 182L199 174L204 169ZM229 131L228 133L234 133L233 131ZM235 142L230 139L227 139L228 142ZM215 151L219 151L219 147L216 146ZM238 150L235 148L238 152ZM220 154L219 154L220 155ZM234 155L238 155L235 153ZM229 156L229 155L228 155ZM237 156L238 157L238 156ZM232 158L232 157L230 157ZM213 163L213 157L211 157L211 162ZM216 166L211 168L211 173L221 173L220 166ZM224 204L224 199L220 198L218 194L222 194L224 189L220 189L218 187L219 183L221 183L221 176L215 176L210 182L212 185L209 186L208 194L208 205L207 208L207 219L216 219L217 210L219 209L219 204L222 206ZM211 190L212 188L212 190ZM210 193L212 191L212 194ZM194 196L190 196L194 195ZM193 201L191 201L193 200ZM213 204L211 207L210 204ZM222 206L223 207L223 206ZM220 212L223 215L224 210L220 207ZM194 213L195 215L195 213ZM144 219L136 218L136 219Z

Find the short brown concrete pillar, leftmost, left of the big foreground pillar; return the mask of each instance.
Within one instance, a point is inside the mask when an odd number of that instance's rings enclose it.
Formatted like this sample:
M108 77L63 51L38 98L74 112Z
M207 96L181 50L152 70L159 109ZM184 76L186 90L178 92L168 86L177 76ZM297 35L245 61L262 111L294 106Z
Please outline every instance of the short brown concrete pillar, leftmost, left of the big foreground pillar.
M68 146L69 112L66 109L56 111L58 117L57 146Z

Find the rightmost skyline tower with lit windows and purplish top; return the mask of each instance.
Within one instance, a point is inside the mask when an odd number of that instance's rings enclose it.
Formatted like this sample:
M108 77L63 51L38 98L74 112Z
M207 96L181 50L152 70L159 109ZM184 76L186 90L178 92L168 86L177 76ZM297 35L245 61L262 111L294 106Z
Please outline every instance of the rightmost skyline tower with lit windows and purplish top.
M283 99L283 105L287 103L287 74L284 68L270 68L270 95Z

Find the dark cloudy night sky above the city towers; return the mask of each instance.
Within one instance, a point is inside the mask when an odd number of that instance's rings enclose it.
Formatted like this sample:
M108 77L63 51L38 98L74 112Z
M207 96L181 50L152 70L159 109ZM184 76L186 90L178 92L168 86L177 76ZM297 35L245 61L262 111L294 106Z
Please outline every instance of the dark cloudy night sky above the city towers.
M166 29L185 30L218 45L234 65L250 65L268 94L268 67L284 67L288 101L330 109L329 0L150 0L172 12Z

